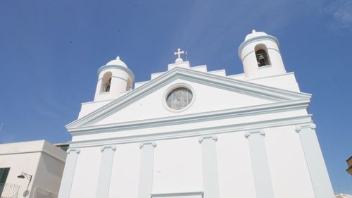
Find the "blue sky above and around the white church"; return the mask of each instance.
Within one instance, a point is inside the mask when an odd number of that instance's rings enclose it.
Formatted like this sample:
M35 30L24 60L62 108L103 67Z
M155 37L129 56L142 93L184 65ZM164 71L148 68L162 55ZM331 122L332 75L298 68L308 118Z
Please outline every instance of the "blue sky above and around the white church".
M279 39L287 71L313 94L334 191L352 194L351 0L0 0L0 143L69 141L64 125L116 56L137 82L167 70L178 47L191 66L243 73L237 49L252 29Z

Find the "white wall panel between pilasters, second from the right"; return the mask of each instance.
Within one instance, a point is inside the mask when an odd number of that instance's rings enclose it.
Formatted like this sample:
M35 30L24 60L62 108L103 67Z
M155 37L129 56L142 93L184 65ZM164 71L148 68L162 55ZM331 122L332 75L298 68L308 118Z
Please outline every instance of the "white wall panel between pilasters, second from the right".
M244 132L218 135L220 197L256 197L249 144Z

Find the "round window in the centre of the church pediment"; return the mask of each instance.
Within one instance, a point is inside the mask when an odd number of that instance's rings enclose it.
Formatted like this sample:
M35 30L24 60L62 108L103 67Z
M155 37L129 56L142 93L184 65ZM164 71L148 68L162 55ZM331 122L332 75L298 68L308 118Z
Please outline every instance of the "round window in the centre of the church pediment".
M184 107L188 106L193 98L193 94L191 90L179 87L176 89L172 89L172 91L166 97L166 104L171 109L179 110L184 109Z

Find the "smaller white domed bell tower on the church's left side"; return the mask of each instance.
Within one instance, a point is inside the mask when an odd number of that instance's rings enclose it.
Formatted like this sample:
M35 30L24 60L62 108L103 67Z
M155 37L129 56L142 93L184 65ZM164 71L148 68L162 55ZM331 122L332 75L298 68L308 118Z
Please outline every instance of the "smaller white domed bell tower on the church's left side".
M94 101L117 99L132 89L134 74L118 56L98 70Z

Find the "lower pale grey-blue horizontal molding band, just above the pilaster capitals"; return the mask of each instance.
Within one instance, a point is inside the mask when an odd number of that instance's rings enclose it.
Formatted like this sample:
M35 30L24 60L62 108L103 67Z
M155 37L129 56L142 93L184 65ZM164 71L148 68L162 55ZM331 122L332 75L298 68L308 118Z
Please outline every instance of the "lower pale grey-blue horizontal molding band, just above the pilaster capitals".
M309 125L311 123L311 115L296 116L294 118L279 118L275 120L264 120L251 123L240 123L234 125L222 125L220 127L211 128L197 128L194 130L178 130L170 132L153 133L147 135L134 135L127 137L115 137L105 138L98 140L82 140L68 142L70 147L96 147L104 144L122 144L122 143L133 143L133 142L151 142L154 140L168 140L182 137L197 137L202 135L213 135L214 131L217 134L227 132L241 132L243 130L258 130L261 128L272 128L285 125L298 125L304 124Z

